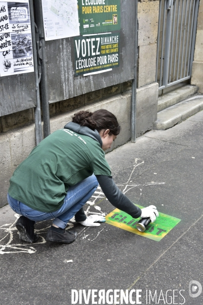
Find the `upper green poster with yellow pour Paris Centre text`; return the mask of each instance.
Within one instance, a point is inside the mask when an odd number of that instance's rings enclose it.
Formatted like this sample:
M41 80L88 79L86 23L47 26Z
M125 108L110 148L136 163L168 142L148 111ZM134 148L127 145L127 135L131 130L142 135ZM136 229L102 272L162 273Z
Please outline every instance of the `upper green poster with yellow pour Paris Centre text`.
M80 35L120 29L120 0L78 0Z

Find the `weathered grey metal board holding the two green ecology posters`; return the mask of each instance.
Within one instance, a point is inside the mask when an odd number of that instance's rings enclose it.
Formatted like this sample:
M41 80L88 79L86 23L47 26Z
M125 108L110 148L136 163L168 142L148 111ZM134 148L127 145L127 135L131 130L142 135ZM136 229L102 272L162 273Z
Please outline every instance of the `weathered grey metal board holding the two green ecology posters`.
M134 78L135 2L73 1L78 5L79 35L46 41L49 103ZM37 3L40 0L36 0L36 8ZM114 24L113 15L116 14ZM97 26L99 23L100 26ZM114 36L118 37L116 41L110 41L110 37ZM103 44L102 38L106 39Z

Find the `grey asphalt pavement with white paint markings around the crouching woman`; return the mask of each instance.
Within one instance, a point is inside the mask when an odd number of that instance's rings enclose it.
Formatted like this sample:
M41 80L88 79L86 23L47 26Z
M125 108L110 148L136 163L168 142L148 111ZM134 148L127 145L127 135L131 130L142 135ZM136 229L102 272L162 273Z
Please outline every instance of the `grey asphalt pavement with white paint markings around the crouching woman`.
M181 219L158 242L107 223L70 222L77 239L58 245L45 241L47 221L35 225L40 238L28 245L18 238L14 213L1 208L0 304L119 304L120 290L127 289L124 304L202 304L202 132L203 111L106 155L116 184L134 203L154 204ZM107 215L114 207L98 189L85 209L89 215ZM81 302L73 290L80 291ZM98 297L85 300L88 291Z

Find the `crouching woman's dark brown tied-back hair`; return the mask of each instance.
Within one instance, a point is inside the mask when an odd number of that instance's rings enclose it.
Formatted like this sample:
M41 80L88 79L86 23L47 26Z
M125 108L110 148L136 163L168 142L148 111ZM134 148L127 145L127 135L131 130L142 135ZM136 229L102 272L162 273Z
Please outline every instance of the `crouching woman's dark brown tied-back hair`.
M72 121L81 126L87 126L92 130L100 132L102 129L109 129L109 134L117 136L120 132L120 126L117 118L108 110L100 109L94 112L79 111L74 114Z

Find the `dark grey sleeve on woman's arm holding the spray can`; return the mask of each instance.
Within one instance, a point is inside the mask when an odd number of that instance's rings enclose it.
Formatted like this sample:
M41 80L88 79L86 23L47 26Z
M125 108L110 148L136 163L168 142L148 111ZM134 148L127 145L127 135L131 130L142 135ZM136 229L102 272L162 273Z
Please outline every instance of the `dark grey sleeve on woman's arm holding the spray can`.
M141 209L118 189L112 176L96 175L96 177L104 195L113 206L128 213L133 218L141 216Z

